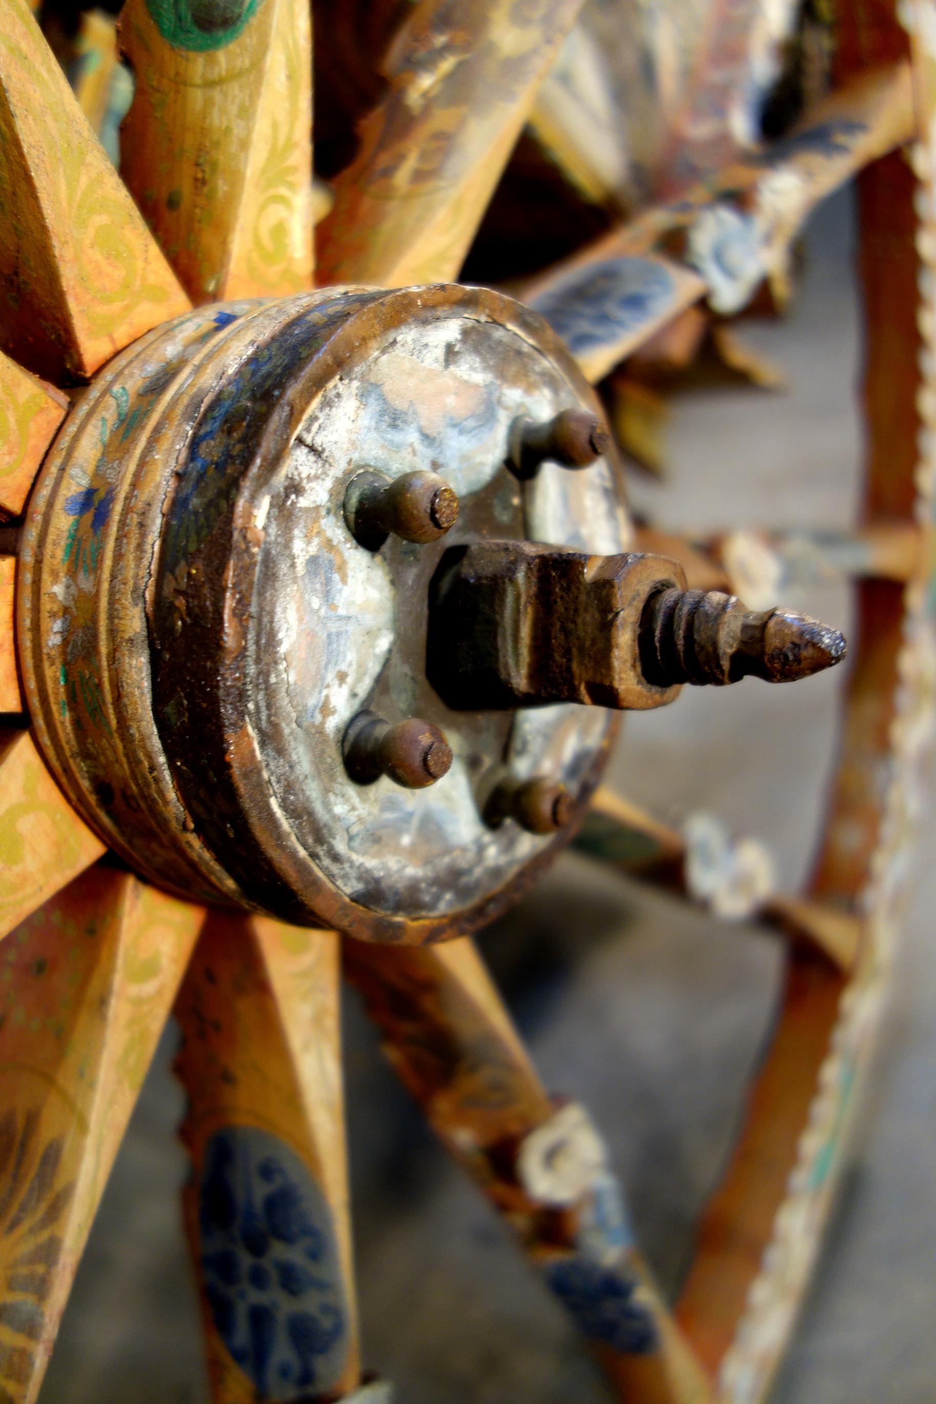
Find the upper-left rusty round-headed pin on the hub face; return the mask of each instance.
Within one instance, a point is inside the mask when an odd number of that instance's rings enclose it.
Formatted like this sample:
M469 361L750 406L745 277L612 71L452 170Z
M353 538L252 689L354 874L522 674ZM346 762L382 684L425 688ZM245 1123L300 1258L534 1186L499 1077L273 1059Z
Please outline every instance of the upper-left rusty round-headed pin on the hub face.
M455 489L424 470L389 479L365 469L351 479L344 497L348 531L368 550L379 550L390 535L418 543L438 541L457 515Z

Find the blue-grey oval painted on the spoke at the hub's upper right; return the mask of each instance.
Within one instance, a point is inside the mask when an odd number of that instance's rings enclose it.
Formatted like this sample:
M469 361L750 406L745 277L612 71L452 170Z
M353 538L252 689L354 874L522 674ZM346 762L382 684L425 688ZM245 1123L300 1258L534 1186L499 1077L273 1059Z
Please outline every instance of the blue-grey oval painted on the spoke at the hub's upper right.
M653 258L612 258L582 268L533 306L573 355L613 344L671 305L674 281Z

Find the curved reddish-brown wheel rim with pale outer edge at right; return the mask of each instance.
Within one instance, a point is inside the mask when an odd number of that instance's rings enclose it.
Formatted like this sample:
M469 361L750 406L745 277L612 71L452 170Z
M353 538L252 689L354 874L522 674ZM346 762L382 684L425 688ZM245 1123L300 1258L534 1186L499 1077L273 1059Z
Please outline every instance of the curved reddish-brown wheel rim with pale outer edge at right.
M898 18L888 3L862 10L842 6L836 13L839 77L866 65L869 55L902 58L908 38L901 20L912 20L912 11ZM923 25L928 21L926 13ZM932 45L923 25L918 38ZM900 154L876 161L857 181L866 307L862 515L867 524L932 519L933 243L932 223L923 219L921 229L916 222L916 209L921 204L929 209L933 197L926 95L932 56L921 52L918 60L925 145L915 168L926 185L915 187ZM702 1255L686 1285L681 1317L703 1355L731 1341L721 1370L726 1397L742 1387L745 1397L761 1401L776 1376L828 1221L880 1028L911 870L921 774L929 768L933 632L926 556L919 553L918 573L907 585L869 580L857 588L857 649L846 688L842 754L811 883L815 899L845 911L860 904L866 913L857 970L839 1007L841 987L831 974L822 979L803 955L794 962L775 1049L755 1088L728 1179L703 1224ZM798 1129L793 1123L797 1104ZM727 1259L716 1264L718 1248L727 1250ZM727 1285L717 1299L716 1276Z

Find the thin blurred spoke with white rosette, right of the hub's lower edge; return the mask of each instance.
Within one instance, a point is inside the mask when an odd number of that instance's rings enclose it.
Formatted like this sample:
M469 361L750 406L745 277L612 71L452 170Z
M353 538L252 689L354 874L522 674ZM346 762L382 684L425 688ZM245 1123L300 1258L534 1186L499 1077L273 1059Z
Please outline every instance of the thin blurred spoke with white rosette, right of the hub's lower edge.
M709 816L672 828L640 806L599 789L573 841L588 858L700 903L716 915L784 932L836 969L850 970L863 927L831 904L772 890L772 865L755 840L730 840Z

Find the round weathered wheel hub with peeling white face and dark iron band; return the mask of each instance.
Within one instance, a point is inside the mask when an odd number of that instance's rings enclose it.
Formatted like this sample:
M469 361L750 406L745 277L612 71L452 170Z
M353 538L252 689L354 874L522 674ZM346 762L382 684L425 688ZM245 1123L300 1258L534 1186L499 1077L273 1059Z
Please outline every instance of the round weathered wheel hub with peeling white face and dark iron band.
M542 803L537 824L519 800L519 821L504 803L491 821L491 793L556 788L567 837L613 719L448 706L427 678L431 583L459 543L626 548L606 453L530 468L528 431L507 466L518 424L594 409L544 323L477 289L206 307L118 357L51 453L22 546L29 706L77 807L203 900L390 941L488 920L563 837ZM446 489L435 539L404 539L386 503L396 529L375 538L375 483L414 476ZM448 772L355 774L362 713L385 750L414 719L441 733Z

